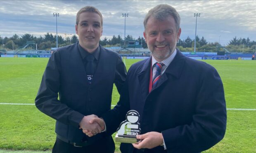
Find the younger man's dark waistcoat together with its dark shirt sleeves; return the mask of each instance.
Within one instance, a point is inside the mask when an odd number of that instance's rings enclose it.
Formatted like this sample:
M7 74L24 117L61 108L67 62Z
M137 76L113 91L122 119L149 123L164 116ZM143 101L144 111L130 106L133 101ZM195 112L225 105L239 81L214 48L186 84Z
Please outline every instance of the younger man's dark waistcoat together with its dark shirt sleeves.
M85 134L78 128L83 116L101 116L111 109L115 83L120 92L126 79L126 67L121 56L100 46L100 56L94 79L87 81L78 43L59 48L52 53L36 96L36 107L56 119L55 132L71 142L80 142ZM59 93L59 100L58 100ZM104 140L104 134L87 137L88 141ZM109 139L108 136L106 139ZM97 142L100 144L99 142ZM111 138L111 146L114 142Z

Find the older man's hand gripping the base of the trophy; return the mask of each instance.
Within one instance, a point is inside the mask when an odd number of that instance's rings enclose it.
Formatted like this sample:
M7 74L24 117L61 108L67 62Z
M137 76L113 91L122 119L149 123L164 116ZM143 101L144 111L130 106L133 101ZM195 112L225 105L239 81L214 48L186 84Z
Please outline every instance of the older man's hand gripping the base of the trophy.
M164 142L163 135L159 132L147 132L142 135L137 135L137 139L141 139L138 143L133 144L133 147L137 149L152 149L156 146L160 146Z

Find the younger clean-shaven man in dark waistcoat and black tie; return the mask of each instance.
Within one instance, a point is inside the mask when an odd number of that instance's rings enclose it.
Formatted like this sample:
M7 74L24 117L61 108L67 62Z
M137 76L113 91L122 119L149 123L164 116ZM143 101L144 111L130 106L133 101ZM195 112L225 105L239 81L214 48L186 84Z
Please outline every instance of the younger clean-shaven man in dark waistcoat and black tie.
M102 23L95 7L80 9L76 16L79 42L57 49L46 66L35 102L40 111L56 119L52 152L114 152L112 137L101 133L97 123L88 123L111 109L113 84L120 92L126 79L121 56L99 45ZM85 129L97 135L89 138Z

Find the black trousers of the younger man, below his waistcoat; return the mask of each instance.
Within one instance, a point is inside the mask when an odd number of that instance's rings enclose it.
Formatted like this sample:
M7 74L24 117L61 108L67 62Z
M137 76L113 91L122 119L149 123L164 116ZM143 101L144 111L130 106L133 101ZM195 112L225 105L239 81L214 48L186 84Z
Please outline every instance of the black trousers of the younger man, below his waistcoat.
M76 147L56 138L52 153L114 153L115 148L103 142L89 146Z

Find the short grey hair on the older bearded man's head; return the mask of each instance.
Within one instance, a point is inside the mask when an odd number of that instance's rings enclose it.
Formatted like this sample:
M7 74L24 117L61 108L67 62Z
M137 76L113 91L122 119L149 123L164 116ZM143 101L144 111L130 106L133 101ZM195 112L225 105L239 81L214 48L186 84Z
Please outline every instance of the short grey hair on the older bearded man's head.
M170 5L160 4L150 9L149 12L146 14L143 22L145 30L147 21L151 16L159 21L164 21L168 16L173 16L177 32L180 29L180 15L176 11L176 9Z

